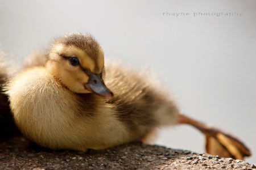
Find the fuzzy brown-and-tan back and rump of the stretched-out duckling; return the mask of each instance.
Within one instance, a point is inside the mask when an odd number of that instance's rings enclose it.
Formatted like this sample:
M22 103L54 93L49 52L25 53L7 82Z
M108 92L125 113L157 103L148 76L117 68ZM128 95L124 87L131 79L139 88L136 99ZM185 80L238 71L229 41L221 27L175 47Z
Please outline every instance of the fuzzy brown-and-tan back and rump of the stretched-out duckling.
M131 131L143 137L159 126L177 124L175 103L148 80L147 73L112 63L106 65L106 74L106 86L114 93L108 103Z

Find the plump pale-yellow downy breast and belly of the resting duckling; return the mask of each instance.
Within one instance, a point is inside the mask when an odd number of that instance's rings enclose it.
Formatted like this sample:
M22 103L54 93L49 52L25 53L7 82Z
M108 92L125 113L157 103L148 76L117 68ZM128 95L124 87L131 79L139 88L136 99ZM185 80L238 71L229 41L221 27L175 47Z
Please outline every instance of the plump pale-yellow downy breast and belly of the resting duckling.
M17 74L7 90L19 129L41 146L85 150L133 141L105 100L73 93L43 67Z

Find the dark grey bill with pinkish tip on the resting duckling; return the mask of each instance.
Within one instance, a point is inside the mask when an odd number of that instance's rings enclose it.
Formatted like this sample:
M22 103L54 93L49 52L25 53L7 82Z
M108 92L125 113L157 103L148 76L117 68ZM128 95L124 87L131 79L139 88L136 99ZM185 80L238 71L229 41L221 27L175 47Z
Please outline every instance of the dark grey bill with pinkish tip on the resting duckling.
M100 74L90 73L88 83L85 84L85 89L105 99L111 99L114 96L113 92L106 87Z

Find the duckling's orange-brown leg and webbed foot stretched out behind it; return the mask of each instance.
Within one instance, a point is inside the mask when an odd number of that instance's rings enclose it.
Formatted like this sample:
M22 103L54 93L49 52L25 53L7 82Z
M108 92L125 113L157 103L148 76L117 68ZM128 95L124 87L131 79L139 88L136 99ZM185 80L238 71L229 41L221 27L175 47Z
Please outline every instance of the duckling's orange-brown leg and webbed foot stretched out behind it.
M204 133L206 137L206 151L209 154L234 159L243 159L245 156L251 155L249 149L239 139L220 129L207 126L184 114L179 115L179 124L192 125Z

